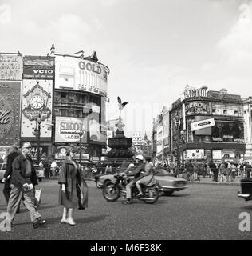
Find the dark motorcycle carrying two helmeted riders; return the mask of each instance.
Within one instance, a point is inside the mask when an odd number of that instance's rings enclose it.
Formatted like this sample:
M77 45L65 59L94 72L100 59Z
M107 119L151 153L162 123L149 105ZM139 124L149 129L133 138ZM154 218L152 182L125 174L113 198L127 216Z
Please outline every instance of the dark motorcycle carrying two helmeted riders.
M115 174L116 182L106 182L103 187L103 196L109 202L115 202L118 198L126 198L126 186L132 180L125 178L122 174ZM153 177L148 185L141 184L143 196L138 197L139 191L136 184L132 187L132 199L139 199L145 203L155 203L159 199L159 187L156 179Z

